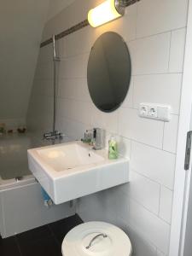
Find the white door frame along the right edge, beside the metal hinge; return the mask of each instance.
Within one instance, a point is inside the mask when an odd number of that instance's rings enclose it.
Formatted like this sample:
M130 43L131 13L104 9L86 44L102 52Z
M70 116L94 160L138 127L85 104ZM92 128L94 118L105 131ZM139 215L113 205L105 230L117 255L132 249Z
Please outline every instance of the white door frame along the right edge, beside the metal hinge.
M192 106L192 0L189 0L187 37L183 67L183 86L177 137L177 158L172 206L169 256L183 256L190 171L184 171L185 145L190 130ZM191 167L189 168L191 170Z

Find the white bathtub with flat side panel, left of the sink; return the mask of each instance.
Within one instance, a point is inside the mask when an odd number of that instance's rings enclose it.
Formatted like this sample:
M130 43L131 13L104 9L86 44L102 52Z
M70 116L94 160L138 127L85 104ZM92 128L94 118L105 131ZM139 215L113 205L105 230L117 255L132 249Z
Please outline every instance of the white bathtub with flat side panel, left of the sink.
M69 203L44 207L41 187L29 171L26 157L27 148L43 144L48 143L34 139L29 133L0 137L0 233L3 238L75 213Z

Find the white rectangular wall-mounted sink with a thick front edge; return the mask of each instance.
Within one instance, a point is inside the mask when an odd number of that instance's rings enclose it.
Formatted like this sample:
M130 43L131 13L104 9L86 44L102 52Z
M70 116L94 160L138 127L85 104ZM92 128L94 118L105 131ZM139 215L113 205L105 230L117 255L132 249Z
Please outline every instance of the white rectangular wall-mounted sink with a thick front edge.
M29 149L28 165L55 204L129 181L129 160L81 142Z

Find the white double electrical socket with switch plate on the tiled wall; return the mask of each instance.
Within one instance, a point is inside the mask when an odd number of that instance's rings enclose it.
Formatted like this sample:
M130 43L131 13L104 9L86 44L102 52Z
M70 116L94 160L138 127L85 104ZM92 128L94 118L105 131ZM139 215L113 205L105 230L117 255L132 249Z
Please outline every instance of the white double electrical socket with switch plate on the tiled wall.
M146 119L156 119L164 122L171 120L171 107L154 103L141 103L139 116Z

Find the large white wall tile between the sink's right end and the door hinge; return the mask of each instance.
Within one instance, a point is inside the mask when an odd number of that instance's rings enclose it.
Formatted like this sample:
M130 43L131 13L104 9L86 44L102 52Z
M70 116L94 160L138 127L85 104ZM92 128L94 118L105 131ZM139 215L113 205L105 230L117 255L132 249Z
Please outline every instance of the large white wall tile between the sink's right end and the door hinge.
M131 169L172 189L175 155L133 142L131 144Z

